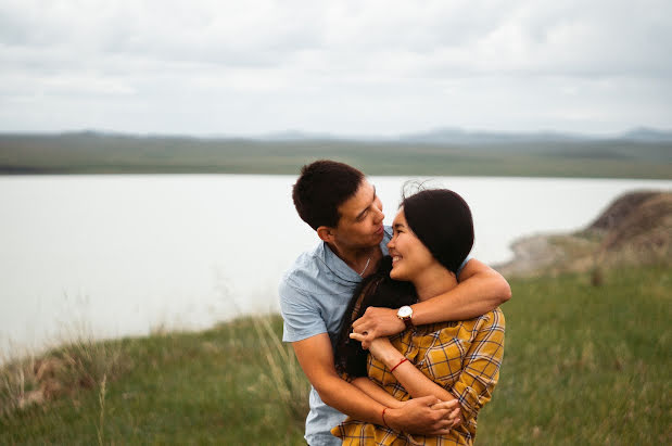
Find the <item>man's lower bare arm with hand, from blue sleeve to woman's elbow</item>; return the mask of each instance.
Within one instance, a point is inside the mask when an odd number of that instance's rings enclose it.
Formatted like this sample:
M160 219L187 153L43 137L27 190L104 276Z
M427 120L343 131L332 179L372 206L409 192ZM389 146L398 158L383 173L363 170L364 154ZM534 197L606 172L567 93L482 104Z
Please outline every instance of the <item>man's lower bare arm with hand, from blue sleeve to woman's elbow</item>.
M357 387L341 379L333 366L331 342L327 333L292 343L296 359L322 402L356 420L383 425L385 406L371 399ZM449 432L449 409L433 408L440 403L433 396L414 398L401 408L389 408L385 421L396 431L440 435Z

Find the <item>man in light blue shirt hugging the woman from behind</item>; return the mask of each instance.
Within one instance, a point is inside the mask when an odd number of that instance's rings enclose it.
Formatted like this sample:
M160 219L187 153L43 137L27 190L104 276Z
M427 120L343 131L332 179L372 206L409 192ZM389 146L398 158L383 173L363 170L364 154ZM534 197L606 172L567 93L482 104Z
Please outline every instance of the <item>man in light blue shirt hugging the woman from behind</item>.
M343 413L408 433L446 433L459 413L458 402L424 397L385 408L335 371L333 345L345 307L362 278L388 254L392 235L382 225L375 187L354 167L322 160L303 167L292 197L300 217L321 240L299 256L279 286L282 340L292 343L313 385L306 441L312 446L339 445L330 430L345 418ZM451 292L410 307L369 308L353 330L366 335L367 347L371 340L400 333L407 326L469 319L510 298L506 280L476 259L462 266L458 279Z

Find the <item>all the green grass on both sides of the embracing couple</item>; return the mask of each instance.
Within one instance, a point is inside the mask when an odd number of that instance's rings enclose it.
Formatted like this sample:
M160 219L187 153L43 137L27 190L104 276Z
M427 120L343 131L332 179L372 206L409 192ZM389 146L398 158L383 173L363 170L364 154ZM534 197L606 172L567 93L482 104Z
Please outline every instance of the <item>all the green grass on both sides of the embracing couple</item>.
M500 382L477 443L671 444L671 272L609 270L598 288L588 273L512 281ZM69 373L93 385L14 404L0 416L0 444L303 444L307 383L280 333L278 317L245 318L89 344L102 359ZM20 369L0 378L18 382L8 377ZM16 392L3 385L5 407Z

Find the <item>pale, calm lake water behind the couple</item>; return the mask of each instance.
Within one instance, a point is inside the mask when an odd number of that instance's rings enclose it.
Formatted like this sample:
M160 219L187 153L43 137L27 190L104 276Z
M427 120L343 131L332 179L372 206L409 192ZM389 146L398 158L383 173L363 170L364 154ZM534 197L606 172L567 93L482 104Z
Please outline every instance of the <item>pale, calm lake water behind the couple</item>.
M390 224L405 177L371 177ZM0 177L0 352L75 335L200 329L277 311L277 284L316 243L294 176ZM510 258L521 235L589 224L635 189L672 181L444 177L476 225L472 255Z

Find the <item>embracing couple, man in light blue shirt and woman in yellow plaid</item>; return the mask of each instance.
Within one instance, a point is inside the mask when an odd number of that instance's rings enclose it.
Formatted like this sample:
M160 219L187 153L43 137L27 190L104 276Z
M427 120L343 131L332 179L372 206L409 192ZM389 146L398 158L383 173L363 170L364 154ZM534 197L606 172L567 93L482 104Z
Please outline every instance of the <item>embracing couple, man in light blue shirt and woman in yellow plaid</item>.
M283 341L313 385L307 443L472 444L510 289L468 257L467 203L420 191L384 227L373 184L333 161L304 166L292 196L320 239L279 286Z

